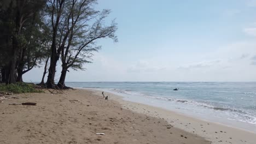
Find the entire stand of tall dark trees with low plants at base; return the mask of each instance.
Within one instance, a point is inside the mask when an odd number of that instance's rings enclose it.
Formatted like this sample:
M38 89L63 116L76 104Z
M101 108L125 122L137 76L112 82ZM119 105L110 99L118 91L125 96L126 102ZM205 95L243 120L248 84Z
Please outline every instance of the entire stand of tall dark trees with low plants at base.
M110 10L95 10L96 4L97 0L1 0L0 83L7 85L0 89L33 91L22 83L22 75L36 67L44 67L39 85L67 88L67 72L84 70L84 64L91 63L93 53L101 49L98 40L117 42L117 23L105 22ZM58 61L61 76L55 77Z

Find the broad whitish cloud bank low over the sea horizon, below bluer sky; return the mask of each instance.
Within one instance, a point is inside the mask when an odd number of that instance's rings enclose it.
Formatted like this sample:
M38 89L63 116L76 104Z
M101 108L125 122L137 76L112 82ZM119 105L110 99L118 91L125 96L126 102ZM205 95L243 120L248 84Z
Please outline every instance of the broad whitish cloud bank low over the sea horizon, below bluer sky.
M256 81L256 42L242 41L211 52L158 53L125 61L106 53L96 53L86 71L72 71L67 81ZM60 66L60 64L59 64ZM37 70L37 71L34 71ZM37 73L36 73L37 72ZM25 81L39 81L42 69L24 75ZM60 69L57 70L59 77Z

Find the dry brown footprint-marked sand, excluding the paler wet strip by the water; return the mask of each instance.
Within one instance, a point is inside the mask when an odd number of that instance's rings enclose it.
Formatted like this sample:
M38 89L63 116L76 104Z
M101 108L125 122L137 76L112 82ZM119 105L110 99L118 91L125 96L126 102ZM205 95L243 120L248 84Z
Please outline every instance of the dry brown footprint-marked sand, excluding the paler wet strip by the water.
M176 122L171 125L104 100L99 92L65 93L19 94L0 103L0 143L211 143L173 127ZM9 105L25 102L37 105Z

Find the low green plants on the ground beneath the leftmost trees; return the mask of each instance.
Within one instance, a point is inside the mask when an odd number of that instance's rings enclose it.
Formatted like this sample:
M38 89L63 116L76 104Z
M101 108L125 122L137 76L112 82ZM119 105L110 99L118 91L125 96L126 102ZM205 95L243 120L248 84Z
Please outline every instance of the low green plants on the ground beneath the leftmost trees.
M31 83L18 82L16 84L4 85L0 84L0 92L13 92L13 93L40 93L39 89Z

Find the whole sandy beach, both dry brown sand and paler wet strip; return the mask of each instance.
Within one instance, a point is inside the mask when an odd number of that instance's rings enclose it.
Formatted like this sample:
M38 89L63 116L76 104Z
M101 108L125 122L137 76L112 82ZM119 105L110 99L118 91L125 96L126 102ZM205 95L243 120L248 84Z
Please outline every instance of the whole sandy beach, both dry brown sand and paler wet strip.
M256 134L85 89L0 103L0 143L254 143ZM9 105L25 102L36 106ZM104 133L104 135L96 135Z

